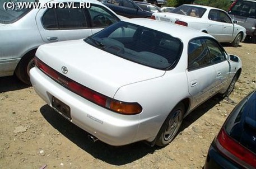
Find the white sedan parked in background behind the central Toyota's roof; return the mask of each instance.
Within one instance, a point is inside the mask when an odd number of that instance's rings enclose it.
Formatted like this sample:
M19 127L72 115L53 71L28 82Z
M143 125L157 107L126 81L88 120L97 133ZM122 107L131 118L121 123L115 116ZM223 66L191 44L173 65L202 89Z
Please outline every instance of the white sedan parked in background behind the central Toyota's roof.
M246 37L246 29L218 8L184 4L171 12L153 13L152 18L192 27L214 36L221 43L231 43L234 47L238 47Z

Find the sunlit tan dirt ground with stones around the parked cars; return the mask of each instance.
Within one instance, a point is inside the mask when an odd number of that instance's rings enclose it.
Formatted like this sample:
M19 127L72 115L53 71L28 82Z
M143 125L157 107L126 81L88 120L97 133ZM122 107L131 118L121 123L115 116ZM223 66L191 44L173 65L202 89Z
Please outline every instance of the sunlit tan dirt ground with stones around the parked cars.
M243 71L230 98L237 104L256 88L256 45L238 48ZM0 78L0 168L202 168L208 147L236 104L213 97L184 119L164 148L138 142L113 147L92 143L87 133L50 109L32 87Z

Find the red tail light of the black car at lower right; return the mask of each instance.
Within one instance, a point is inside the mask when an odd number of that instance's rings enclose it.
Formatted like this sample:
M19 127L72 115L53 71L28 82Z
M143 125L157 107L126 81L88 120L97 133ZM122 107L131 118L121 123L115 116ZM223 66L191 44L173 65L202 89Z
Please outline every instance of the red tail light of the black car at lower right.
M232 139L224 128L217 136L216 146L221 153L241 166L256 168L256 154Z

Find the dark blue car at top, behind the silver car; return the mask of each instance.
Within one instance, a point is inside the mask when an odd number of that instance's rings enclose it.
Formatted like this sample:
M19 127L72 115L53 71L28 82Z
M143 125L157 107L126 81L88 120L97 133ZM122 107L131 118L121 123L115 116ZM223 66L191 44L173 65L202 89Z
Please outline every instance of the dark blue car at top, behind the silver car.
M118 15L128 18L151 18L153 12L143 10L137 3L131 0L105 0L103 4L108 6Z

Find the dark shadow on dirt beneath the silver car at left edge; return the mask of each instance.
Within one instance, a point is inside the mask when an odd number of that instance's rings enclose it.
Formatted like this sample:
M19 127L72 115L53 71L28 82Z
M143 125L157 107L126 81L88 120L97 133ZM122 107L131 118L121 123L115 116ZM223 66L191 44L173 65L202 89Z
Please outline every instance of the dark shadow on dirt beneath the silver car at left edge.
M0 77L0 93L21 90L29 87L22 83L16 76Z

